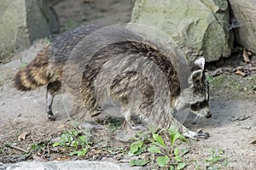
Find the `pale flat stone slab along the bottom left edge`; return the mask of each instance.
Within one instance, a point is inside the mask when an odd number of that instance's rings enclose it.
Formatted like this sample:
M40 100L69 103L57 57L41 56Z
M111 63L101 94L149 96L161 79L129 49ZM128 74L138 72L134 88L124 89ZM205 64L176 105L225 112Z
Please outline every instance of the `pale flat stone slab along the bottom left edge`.
M2 170L138 170L140 167L130 167L127 163L110 161L23 161L14 164L0 165Z

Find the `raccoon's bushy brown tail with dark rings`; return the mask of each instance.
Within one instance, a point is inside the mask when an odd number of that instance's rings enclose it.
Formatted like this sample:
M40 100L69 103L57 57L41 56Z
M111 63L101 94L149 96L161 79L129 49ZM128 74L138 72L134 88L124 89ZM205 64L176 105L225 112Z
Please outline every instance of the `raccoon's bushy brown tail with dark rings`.
M14 78L15 88L28 91L48 84L48 54L48 48L44 48L25 68L17 72Z

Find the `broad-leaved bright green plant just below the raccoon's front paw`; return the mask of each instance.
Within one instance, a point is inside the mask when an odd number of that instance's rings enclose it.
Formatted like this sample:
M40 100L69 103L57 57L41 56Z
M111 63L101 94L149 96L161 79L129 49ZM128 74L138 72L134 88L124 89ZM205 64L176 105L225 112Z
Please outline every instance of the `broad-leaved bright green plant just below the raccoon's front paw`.
M171 126L168 129L169 137L166 136L167 141L158 133L152 133L150 139L137 139L130 145L128 156L138 156L143 152L148 151L154 154L154 159L159 167L170 167L170 169L183 169L186 163L183 161L183 156L189 152L188 149L179 150L176 147L177 139L188 141L182 134L178 133L177 128ZM145 144L148 140L149 144ZM130 165L143 166L147 164L147 160L131 160Z

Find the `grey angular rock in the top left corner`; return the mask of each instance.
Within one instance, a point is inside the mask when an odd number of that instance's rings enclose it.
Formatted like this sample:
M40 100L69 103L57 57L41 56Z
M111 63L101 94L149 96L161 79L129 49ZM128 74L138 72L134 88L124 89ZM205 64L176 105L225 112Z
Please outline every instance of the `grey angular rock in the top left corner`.
M59 30L56 15L44 0L0 0L0 59Z

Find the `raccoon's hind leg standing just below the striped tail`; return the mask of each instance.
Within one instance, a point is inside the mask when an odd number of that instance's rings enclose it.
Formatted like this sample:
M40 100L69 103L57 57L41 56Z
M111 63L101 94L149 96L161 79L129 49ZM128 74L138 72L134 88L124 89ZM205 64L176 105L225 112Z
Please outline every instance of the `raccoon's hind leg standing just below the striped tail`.
M52 103L55 98L55 95L57 94L61 94L61 82L49 82L46 91L46 109L50 121L55 121L55 116L52 112Z

